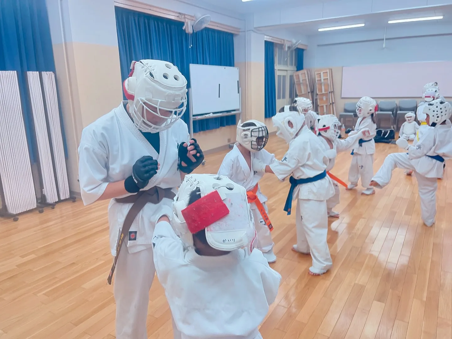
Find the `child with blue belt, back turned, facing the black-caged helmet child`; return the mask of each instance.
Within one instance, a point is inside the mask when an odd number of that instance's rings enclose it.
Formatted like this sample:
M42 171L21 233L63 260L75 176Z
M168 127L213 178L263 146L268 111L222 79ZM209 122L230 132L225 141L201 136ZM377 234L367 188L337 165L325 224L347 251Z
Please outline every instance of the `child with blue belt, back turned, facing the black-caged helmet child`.
M291 187L284 211L291 213L292 200L297 199L297 244L292 249L311 254L309 274L321 275L332 266L330 250L326 243L328 216L326 200L334 196L334 185L326 175L329 156L319 138L304 124L305 117L298 111L277 113L273 124L276 134L289 144L281 161L271 165L261 164L260 170L274 173L283 180L291 175ZM257 170L258 164L256 164Z

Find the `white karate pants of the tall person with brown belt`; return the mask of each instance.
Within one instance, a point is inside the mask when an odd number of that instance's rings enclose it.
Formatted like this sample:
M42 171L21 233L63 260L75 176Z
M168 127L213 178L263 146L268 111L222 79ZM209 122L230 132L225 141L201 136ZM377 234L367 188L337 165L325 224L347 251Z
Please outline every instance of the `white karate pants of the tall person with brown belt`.
M113 283L116 301L116 339L147 339L147 306L154 275L152 247L131 254L126 243L123 243ZM174 321L173 332L175 339L181 337L174 326Z

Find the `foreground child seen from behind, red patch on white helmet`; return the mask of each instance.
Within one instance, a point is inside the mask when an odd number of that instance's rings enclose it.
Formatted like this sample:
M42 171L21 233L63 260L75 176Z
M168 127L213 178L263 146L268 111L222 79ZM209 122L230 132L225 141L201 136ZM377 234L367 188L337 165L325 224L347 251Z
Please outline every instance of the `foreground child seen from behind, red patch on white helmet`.
M255 239L245 188L222 175L185 176L152 240L181 339L262 339L281 275L253 249Z

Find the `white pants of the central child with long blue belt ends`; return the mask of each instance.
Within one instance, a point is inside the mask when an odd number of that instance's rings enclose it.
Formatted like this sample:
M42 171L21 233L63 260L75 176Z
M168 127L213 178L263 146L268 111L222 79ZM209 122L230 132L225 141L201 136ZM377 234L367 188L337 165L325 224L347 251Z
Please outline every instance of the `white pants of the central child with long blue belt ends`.
M312 273L322 274L333 265L326 243L328 216L326 201L298 199L296 212L297 250L311 252Z

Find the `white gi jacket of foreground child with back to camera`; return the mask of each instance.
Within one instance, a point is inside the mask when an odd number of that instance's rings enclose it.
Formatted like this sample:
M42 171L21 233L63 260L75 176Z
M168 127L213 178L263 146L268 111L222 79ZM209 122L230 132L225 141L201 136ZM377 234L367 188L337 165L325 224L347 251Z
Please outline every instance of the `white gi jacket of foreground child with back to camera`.
M258 249L210 257L186 249L170 224L155 226L154 263L181 339L260 339L281 275Z

